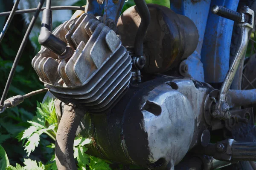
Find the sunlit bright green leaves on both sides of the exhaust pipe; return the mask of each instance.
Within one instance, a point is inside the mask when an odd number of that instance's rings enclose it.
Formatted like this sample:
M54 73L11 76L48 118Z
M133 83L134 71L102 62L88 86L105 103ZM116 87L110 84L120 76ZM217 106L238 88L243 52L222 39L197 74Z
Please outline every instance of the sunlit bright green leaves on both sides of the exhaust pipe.
M58 120L54 107L54 100L52 98L47 98L44 103L37 104L36 116L32 121L28 121L30 126L23 130L17 138L25 143L24 148L26 150L27 156L38 147L41 143L40 136L45 133L52 141L56 139L56 132L58 129ZM83 137L76 137L74 141L74 158L78 162L79 170L111 170L109 164L94 156L89 156L85 152L87 147L85 145L90 144L91 140ZM42 164L42 162L32 161L31 159L24 159L24 167L20 164L16 164L16 167L10 166L7 170L57 170L55 163L55 155L53 153L55 144L50 144L46 146L52 150L52 159L47 162L47 164Z

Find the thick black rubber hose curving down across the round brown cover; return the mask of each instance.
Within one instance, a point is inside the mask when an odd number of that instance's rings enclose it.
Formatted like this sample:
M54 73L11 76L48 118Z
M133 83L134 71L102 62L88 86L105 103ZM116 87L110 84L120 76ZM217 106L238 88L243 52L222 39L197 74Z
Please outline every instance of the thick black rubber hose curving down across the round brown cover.
M150 13L145 0L134 0L134 3L141 17L141 23L134 42L134 53L136 56L143 56L143 40L150 23Z

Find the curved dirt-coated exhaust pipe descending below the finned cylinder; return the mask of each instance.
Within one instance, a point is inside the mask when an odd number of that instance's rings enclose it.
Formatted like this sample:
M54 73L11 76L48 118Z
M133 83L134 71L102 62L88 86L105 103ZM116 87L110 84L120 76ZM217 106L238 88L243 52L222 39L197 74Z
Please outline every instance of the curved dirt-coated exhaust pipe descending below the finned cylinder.
M73 145L81 114L77 108L75 109L75 106L72 103L65 104L58 126L55 141L55 158L58 170L77 170Z

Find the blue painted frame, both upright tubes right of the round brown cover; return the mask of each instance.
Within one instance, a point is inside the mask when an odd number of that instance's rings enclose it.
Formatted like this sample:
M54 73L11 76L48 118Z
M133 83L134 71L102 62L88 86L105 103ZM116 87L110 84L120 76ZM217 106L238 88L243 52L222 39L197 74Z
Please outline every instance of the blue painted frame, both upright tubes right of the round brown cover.
M171 9L189 17L198 28L197 49L185 61L191 68L188 72L192 78L208 83L224 81L229 69L234 22L212 14L210 6L220 5L236 11L238 3L239 0L170 0Z

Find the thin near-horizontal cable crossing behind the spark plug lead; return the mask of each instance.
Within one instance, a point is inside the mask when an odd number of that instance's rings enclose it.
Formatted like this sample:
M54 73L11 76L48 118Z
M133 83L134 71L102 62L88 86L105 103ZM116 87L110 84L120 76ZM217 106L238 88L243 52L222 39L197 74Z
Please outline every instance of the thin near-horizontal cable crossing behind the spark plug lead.
M41 8L40 11L44 11L44 9L46 9L45 7L44 8ZM51 7L51 10L80 10L80 11L84 11L84 7L81 7L81 6L52 6ZM36 12L36 8L32 8L32 9L23 9L23 10L17 10L15 12L15 15L16 14L25 14L25 13L33 13L33 12ZM1 16L8 16L11 14L11 11L9 12L1 12L0 13L0 17Z

